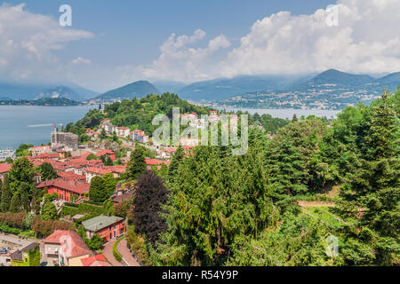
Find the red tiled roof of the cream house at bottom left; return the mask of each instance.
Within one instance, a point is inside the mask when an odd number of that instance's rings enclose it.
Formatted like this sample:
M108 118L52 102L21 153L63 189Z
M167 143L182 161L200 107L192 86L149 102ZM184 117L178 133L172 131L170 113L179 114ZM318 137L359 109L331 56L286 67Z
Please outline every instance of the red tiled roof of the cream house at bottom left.
M44 243L60 244L67 258L91 254L84 240L73 231L55 231L43 241Z

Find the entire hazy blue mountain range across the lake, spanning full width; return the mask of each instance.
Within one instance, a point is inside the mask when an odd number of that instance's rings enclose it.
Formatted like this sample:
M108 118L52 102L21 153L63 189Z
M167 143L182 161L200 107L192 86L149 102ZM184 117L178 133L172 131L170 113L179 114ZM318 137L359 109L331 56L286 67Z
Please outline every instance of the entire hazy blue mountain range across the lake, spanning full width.
M0 83L0 100L65 98L75 101L113 101L142 98L148 94L169 91L177 93L182 99L232 106L241 99L274 99L277 94L286 93L294 94L294 99L315 99L320 95L323 99L339 97L342 101L356 101L366 94L377 96L385 88L395 91L399 84L400 72L374 78L371 75L354 75L330 69L317 75L243 75L191 84L173 81L158 81L153 84L138 81L103 94L84 89L74 83L58 86Z

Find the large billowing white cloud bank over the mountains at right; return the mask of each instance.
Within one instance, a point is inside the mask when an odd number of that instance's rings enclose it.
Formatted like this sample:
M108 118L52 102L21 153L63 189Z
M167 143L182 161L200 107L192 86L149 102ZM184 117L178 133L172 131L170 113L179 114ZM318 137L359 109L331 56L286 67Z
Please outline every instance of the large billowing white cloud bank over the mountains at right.
M197 30L193 36L172 35L153 64L136 67L131 74L197 81L304 74L329 68L354 73L400 71L400 1L339 0L336 7L338 26L327 24L332 9L318 9L309 15L278 12L257 20L231 49L224 35L212 39L204 49L190 46L204 38L204 31Z

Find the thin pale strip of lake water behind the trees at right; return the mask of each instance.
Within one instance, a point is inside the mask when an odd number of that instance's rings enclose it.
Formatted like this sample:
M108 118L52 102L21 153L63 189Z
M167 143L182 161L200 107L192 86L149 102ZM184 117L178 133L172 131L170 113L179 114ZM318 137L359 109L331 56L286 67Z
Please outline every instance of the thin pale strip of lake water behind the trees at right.
M222 108L227 111L238 111L248 112L249 114L271 114L272 117L282 118L282 119L290 119L292 120L293 114L296 114L298 118L302 115L308 117L309 115L316 115L318 117L326 117L326 118L335 118L340 111L337 110L322 110L322 109L294 109L294 108L286 108L286 109L257 109L257 108Z

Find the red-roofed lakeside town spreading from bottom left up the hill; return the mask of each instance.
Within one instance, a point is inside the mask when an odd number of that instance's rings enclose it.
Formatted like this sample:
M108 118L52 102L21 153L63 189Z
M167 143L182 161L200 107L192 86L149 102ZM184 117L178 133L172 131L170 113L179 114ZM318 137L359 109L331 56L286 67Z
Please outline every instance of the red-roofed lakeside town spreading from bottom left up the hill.
M209 117L211 122L218 122L220 119L216 111L211 111ZM188 124L196 129L204 129L204 120L199 119L196 113L180 114L180 119L189 122ZM153 144L153 139L149 138L145 131L117 127L108 119L100 122L98 130L86 129L85 135L90 137L90 142L80 144L76 134L60 131L56 124L49 145L29 147L28 155L20 157L27 159L34 169L47 166L54 170L55 175L51 178L43 177L42 171L36 170L33 181L36 190L44 194L44 199L51 200L57 215L60 216L60 222L64 224L61 225L62 229L55 229L43 239L35 239L33 235L20 237L12 233L0 233L0 265L140 265L140 261L132 256L126 241L123 240L127 233L126 215L118 217L104 214L101 209L107 201L115 208L125 206L127 201L132 201L135 186L116 182L113 190L108 193L106 202L96 203L91 198L91 184L95 177L111 177L118 180L124 176L130 157L137 147L148 150L151 157L144 157L146 168L156 171L170 165L177 147ZM102 143L102 138L112 139L113 136L123 141L121 145L125 151L122 151L118 144L109 143L107 139L106 143ZM181 138L178 146L188 154L197 143L196 138ZM124 156L119 154L117 162L116 153L121 152L124 152ZM2 183L12 170L12 163L9 163L12 162L12 158L16 158L15 151L4 151L5 162L0 163ZM45 204L46 201L40 204L39 211L42 213ZM31 213L35 213L33 208ZM0 224L7 223L6 218L0 217ZM64 228L73 227L70 226L72 224L81 226L84 238L76 230ZM0 232L4 232L4 229L0 228ZM87 240L92 240L93 236L100 237L100 245L96 249L88 248L87 245ZM118 243L120 240L122 241ZM116 252L116 249L121 252ZM119 258L119 261L116 258Z

